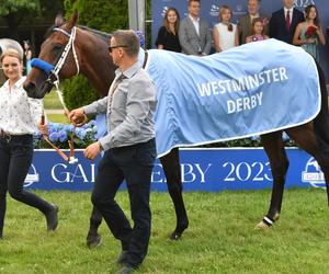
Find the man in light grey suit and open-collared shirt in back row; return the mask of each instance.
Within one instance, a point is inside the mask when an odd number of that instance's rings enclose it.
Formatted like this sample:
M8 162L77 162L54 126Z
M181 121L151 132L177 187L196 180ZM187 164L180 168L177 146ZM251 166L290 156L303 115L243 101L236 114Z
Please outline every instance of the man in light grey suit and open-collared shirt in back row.
M182 20L179 28L179 39L182 53L204 56L211 53L212 34L207 21L201 19L200 0L189 1L189 15Z

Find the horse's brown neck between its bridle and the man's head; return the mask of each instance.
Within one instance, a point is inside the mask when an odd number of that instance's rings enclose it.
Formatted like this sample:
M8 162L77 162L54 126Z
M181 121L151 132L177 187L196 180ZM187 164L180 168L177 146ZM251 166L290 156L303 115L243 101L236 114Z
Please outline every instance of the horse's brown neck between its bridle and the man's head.
M107 43L95 35L89 36L81 45L81 73L101 95L106 95L115 76L115 66L110 58Z

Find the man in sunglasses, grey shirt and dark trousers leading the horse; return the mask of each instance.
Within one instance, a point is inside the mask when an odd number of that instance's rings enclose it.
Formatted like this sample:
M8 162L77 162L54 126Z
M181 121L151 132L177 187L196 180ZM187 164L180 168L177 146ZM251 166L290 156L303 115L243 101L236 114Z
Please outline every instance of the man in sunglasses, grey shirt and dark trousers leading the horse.
M133 31L113 33L110 47L118 67L109 95L73 110L70 118L106 111L107 132L84 150L93 160L103 149L91 201L105 219L113 236L121 240L118 273L131 273L144 261L150 238L150 178L156 158L155 122L157 90L138 62L139 38ZM111 132L110 132L111 128ZM134 227L115 202L115 194L126 180Z

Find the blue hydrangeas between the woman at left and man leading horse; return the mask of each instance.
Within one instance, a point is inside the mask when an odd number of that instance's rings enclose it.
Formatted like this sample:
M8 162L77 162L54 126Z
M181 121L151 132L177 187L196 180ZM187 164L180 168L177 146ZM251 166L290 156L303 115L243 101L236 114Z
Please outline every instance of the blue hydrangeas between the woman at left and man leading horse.
M49 140L58 148L69 148L68 140L71 137L73 137L75 148L86 148L97 140L98 128L93 119L82 127L77 127L75 134L72 125L50 122L47 125ZM33 142L34 148L50 148L50 145L44 140L39 130L34 134Z

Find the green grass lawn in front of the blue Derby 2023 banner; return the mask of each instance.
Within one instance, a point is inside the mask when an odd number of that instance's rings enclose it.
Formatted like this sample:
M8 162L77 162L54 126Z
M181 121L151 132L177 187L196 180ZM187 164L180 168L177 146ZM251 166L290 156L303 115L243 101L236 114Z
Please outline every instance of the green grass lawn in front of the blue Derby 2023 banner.
M89 250L90 193L37 192L59 207L59 228L47 233L35 209L8 198L0 273L115 273L120 243L102 224L103 244ZM151 194L149 253L137 273L329 273L329 215L322 190L288 190L282 217L254 230L270 191L185 193L190 227L179 241L167 193ZM127 193L117 202L129 214Z

